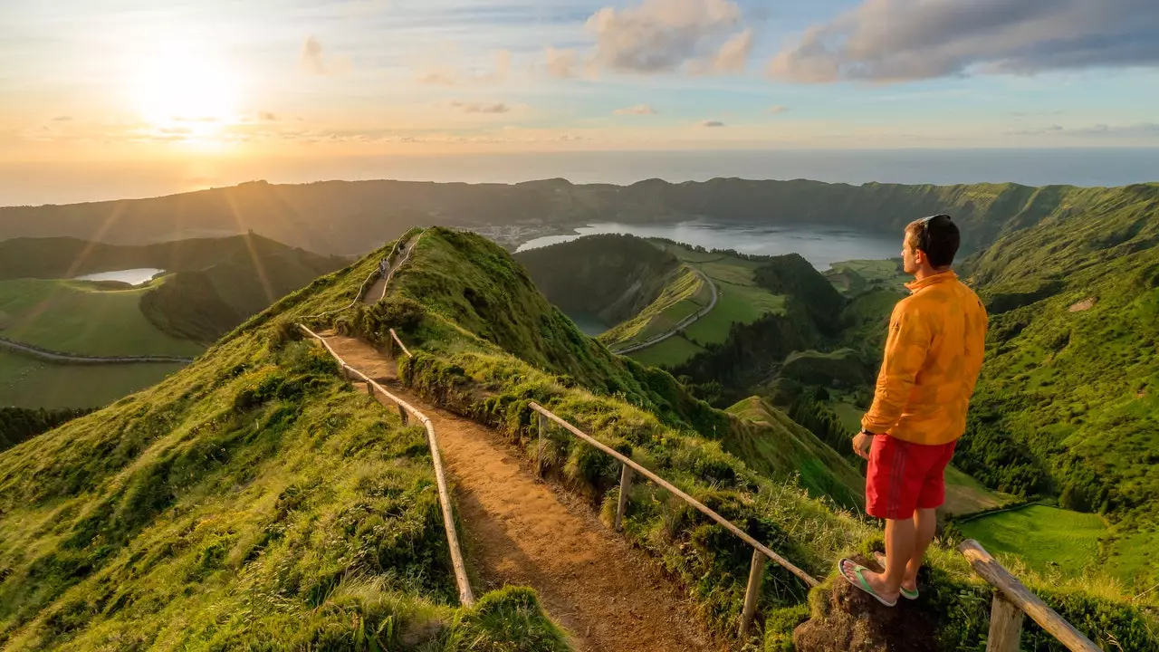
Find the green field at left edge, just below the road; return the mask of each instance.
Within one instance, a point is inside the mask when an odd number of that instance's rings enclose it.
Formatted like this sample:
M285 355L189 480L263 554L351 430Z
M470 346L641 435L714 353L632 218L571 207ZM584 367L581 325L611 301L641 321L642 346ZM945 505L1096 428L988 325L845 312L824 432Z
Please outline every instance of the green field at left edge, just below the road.
M161 382L184 364L52 364L0 350L0 405L100 407Z

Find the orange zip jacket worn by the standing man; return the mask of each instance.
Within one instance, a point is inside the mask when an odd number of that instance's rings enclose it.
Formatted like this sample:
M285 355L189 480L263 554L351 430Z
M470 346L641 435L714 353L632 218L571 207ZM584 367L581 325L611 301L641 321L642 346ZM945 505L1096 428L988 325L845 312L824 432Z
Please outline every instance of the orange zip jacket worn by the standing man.
M913 443L948 443L965 432L986 309L953 271L905 287L911 294L890 317L877 389L861 427Z

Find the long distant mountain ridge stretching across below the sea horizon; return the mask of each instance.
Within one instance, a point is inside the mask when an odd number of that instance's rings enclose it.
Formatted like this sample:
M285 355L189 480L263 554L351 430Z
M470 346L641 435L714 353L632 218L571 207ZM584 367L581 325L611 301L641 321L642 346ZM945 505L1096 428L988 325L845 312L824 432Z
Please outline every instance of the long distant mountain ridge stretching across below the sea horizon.
M70 236L109 244L150 244L191 234L252 230L320 253L364 253L403 230L529 224L574 226L710 218L721 223L810 223L896 232L909 220L950 212L963 244L978 249L1050 215L1153 194L1159 186L1077 188L1016 183L903 186L713 179L630 186L562 179L502 183L263 181L148 200L0 208L0 239Z

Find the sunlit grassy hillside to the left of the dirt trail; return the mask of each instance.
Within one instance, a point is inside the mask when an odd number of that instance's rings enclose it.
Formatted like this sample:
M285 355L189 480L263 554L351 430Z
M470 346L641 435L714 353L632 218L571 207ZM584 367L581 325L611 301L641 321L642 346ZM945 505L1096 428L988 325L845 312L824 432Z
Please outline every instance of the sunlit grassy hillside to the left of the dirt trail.
M0 452L0 646L566 650L533 593L453 606L422 428L283 321L364 277L323 277L156 387Z

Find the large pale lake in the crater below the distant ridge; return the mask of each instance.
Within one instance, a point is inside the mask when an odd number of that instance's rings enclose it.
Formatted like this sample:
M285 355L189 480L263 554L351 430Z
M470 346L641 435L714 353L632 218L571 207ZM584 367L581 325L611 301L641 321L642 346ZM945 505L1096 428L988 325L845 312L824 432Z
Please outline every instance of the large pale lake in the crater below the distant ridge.
M902 255L902 234L882 236L848 227L811 225L737 225L691 220L676 224L589 224L568 236L546 236L529 240L516 249L525 252L598 233L630 233L641 238L668 238L700 245L706 249L736 249L753 255L799 253L819 270L843 260L884 260Z

